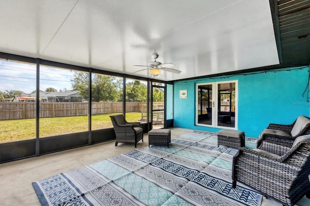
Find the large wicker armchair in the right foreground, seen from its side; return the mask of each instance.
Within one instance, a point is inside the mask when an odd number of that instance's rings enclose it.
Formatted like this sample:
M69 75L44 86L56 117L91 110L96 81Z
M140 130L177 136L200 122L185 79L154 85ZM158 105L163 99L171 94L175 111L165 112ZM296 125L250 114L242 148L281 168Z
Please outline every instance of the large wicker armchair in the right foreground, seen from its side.
M238 181L288 206L305 194L310 198L310 135L296 138L289 149L287 143L281 147L279 142L268 142L273 147L268 151L239 149L233 158L233 188ZM276 149L285 153L273 154Z

